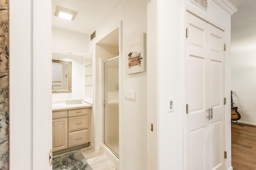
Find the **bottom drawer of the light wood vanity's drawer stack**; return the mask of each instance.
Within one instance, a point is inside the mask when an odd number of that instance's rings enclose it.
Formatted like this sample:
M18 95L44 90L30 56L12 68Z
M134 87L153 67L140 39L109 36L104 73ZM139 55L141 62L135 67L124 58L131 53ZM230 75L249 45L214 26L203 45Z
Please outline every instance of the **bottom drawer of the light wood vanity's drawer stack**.
M88 129L68 133L68 147L88 143Z

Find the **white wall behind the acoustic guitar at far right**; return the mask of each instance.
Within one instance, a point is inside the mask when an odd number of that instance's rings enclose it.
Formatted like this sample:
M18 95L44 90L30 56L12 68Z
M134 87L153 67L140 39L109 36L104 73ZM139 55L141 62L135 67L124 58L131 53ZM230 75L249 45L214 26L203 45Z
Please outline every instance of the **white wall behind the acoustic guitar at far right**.
M242 123L256 125L256 49L231 53L231 90Z

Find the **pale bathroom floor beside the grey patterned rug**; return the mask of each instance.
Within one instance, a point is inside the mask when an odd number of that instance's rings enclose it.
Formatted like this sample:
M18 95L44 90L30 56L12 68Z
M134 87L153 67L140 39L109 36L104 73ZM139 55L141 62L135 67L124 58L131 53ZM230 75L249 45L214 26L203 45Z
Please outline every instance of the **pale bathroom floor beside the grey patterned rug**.
M114 167L114 165L110 162L110 160L108 160L108 158L104 154L102 154L102 152L94 152L94 150L92 150L90 146L85 146L78 150L82 152L82 155L84 156L88 164L92 166L93 170L117 170L116 167Z

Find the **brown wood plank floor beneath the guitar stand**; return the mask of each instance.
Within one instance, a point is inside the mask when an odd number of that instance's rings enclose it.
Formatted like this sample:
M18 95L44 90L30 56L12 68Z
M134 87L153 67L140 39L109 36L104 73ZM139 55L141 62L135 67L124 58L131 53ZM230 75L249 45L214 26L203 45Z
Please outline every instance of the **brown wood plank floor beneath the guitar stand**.
M233 170L256 170L256 126L232 123L231 165Z

